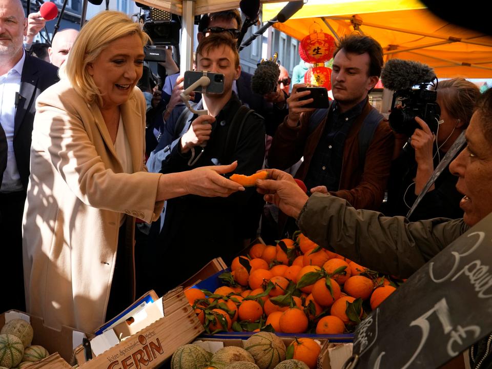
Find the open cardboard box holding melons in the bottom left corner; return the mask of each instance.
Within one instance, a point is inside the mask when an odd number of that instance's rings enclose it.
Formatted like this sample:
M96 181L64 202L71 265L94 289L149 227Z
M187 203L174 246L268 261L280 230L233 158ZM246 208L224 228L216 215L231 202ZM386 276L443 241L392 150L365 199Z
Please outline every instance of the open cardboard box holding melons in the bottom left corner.
M4 326L6 321L12 319L29 321L34 331L32 344L45 347L51 354L49 357L29 366L32 369L72 368L69 363L74 362L73 350L82 342L84 337L88 336L67 326L61 327L61 330L55 330L46 326L42 318L16 310L10 310L0 315L0 327Z

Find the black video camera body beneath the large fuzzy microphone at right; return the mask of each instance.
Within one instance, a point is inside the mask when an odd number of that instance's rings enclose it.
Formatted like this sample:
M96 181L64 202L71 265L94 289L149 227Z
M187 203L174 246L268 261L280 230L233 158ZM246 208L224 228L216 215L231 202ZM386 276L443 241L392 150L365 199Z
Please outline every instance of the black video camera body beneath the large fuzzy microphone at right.
M430 131L437 133L441 108L436 103L437 91L428 90L429 84L422 83L418 89L404 89L393 94L392 110L389 114L389 126L407 137L414 134L419 124L415 117L422 118ZM396 105L395 105L396 104Z

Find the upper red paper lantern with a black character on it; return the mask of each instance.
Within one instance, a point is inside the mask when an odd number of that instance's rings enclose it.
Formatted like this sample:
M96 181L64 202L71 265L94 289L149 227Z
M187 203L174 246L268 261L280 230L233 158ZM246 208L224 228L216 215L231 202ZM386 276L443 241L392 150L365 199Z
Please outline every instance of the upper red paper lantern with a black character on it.
M331 35L314 32L302 39L299 45L299 56L308 63L323 63L332 58L335 49L335 39Z

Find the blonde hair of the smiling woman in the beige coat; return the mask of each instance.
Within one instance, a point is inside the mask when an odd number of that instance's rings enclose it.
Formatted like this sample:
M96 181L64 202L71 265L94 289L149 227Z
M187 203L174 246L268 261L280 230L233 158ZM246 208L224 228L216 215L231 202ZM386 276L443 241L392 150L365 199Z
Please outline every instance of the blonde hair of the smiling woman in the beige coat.
M132 22L125 13L112 10L97 14L80 30L70 50L63 74L88 103L97 100L98 104L102 105L103 100L87 66L93 63L111 42L134 34L142 40L142 48L150 41L138 23Z

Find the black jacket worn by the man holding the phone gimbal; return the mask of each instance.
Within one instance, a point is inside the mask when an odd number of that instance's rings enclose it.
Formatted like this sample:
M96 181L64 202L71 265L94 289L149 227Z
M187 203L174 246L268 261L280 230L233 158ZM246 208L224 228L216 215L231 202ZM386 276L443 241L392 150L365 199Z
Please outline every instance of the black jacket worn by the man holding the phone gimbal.
M167 135L163 139L170 145L168 155L162 161L161 173L174 173L193 168L225 165L238 161L236 173L251 175L261 169L265 151L265 131L263 119L250 114L244 121L239 134L230 137L232 156L226 151L226 141L235 113L241 106L236 94L216 116L212 124L212 134L198 161L189 166L191 154L179 152L179 140L183 132L174 132L175 122L166 124ZM176 117L176 114L174 114ZM193 119L192 119L193 120ZM171 137L174 135L171 141ZM231 135L232 136L232 135ZM199 149L199 148L198 148ZM231 173L228 173L228 176ZM255 188L237 192L229 197L200 197L195 195L170 199L165 205L165 220L156 242L160 260L186 260L177 272L166 276L159 285L162 290L174 288L189 278L214 257L222 257L227 263L243 247L243 240L256 236L263 201ZM155 226L154 226L155 228ZM167 290L166 290L167 291Z

